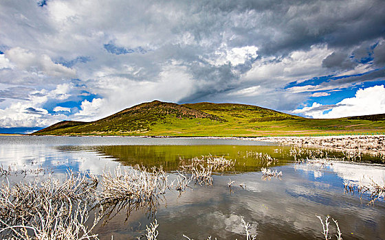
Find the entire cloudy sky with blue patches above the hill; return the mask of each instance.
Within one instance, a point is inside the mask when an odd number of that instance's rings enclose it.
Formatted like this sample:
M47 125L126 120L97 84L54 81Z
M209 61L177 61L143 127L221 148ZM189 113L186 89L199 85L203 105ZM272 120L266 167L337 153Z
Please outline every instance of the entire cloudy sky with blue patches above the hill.
M383 0L2 0L0 128L144 101L385 113Z

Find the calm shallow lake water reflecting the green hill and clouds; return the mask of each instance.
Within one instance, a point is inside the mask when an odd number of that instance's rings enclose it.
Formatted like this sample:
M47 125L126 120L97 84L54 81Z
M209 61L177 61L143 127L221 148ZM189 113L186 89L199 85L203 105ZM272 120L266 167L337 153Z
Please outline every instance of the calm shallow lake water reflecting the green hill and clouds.
M368 205L369 195L344 193L344 180L353 184L385 179L382 165L333 161L332 165L298 165L288 156L290 147L257 141L229 139L145 139L125 137L0 136L0 164L13 169L49 168L54 174L66 169L92 171L118 165L162 165L173 178L182 161L195 156L236 159L231 171L216 173L213 185L176 191L159 202L158 239L245 239L241 217L252 224L257 239L322 239L316 215L338 220L343 239L385 239L385 202ZM266 163L250 152L277 159L269 167L282 171L281 179L263 180ZM333 152L329 154L333 155ZM335 153L338 156L338 153ZM366 156L366 159L371 157ZM375 160L373 158L373 160ZM234 181L232 191L229 178ZM14 178L17 181L20 178ZM245 184L246 189L239 187ZM135 239L144 234L148 219L144 209L118 213L98 226L100 239ZM333 222L330 225L335 239Z

